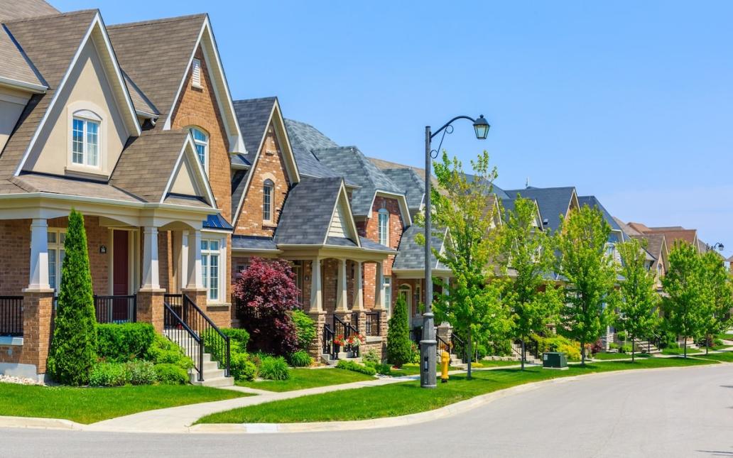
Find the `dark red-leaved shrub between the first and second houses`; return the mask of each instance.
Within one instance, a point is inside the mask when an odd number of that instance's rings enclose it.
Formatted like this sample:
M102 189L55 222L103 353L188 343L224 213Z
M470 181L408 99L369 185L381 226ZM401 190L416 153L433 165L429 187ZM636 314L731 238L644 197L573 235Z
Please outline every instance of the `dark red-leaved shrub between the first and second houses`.
M298 306L290 263L252 258L237 279L233 295L237 317L249 333L249 346L275 355L298 350L298 336L290 312Z

